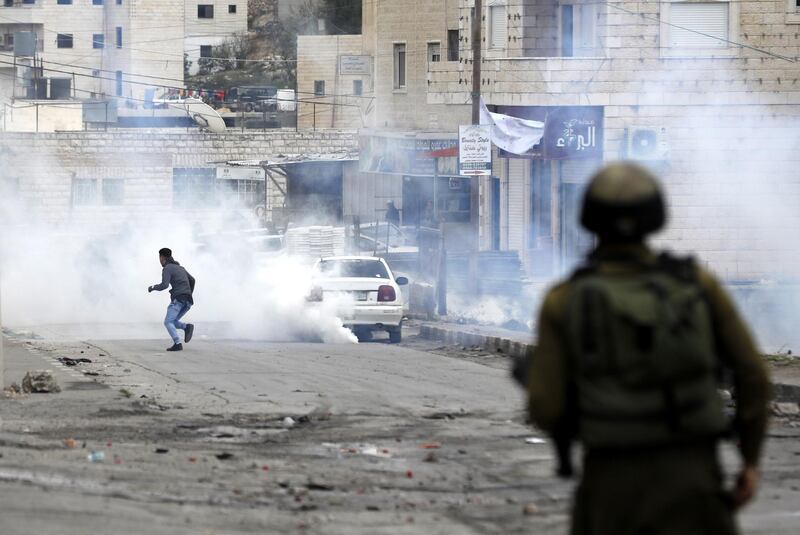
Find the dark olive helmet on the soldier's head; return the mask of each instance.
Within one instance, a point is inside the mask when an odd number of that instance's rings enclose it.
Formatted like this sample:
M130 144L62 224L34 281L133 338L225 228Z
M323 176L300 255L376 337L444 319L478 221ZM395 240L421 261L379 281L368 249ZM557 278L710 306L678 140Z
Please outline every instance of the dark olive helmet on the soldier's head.
M644 167L612 163L597 172L583 198L581 225L614 241L636 241L666 222L664 195Z

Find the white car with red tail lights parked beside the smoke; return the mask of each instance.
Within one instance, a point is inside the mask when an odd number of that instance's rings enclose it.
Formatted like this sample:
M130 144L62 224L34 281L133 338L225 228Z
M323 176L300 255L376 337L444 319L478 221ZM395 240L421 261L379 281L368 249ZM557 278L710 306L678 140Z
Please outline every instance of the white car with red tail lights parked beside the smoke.
M372 331L387 331L389 341L402 340L403 299L400 286L405 277L392 274L382 258L331 256L314 264L309 301L333 300L342 322L358 336L369 340Z

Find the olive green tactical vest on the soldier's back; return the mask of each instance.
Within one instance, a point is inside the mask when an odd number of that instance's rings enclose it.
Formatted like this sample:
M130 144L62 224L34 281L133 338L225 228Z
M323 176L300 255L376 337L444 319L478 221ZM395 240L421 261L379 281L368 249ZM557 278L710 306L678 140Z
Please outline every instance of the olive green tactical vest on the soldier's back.
M728 428L708 302L691 259L661 255L638 274L578 270L567 314L578 436L629 448Z

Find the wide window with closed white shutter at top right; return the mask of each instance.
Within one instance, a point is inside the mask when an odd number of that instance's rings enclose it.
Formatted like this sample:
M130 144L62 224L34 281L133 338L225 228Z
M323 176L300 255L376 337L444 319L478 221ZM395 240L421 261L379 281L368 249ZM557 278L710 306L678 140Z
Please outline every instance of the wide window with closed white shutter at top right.
M670 46L720 48L728 43L728 2L674 2L670 6ZM705 35L702 35L705 34Z

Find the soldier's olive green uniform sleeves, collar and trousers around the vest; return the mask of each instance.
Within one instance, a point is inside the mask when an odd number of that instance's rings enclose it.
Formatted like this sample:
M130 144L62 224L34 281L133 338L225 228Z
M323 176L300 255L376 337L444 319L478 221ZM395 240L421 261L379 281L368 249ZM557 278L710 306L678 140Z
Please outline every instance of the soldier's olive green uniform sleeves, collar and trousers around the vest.
M644 245L609 245L593 257L600 273L609 274L637 273L655 262L655 255ZM766 366L730 297L711 274L698 270L716 331L718 357L733 376L739 449L745 463L756 465L767 424ZM566 418L567 303L573 284L555 286L544 299L528 377L531 419L549 432ZM572 533L736 533L733 509L723 491L717 441L709 436L688 443L585 451Z

